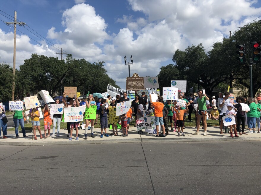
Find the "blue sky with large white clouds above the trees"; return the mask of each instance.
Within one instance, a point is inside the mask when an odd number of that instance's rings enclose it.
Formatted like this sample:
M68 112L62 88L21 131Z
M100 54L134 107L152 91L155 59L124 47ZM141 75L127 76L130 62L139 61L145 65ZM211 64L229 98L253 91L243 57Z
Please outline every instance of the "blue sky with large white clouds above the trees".
M161 66L173 63L176 49L198 43L208 48L259 17L261 0L14 0L1 2L0 10L5 22L12 22L7 14L13 16L16 10L18 20L74 58L104 61L109 76L124 88L124 55L134 57L131 75L156 76ZM13 28L9 29L0 21L0 61L12 66ZM58 49L26 29L31 30L17 27L30 37L17 31L18 69L32 53L61 58Z

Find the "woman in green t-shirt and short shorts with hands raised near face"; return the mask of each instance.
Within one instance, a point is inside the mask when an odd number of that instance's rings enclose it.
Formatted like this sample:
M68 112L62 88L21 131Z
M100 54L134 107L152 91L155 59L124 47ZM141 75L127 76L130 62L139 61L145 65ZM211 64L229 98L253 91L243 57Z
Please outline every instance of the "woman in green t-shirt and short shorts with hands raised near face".
M199 98L197 99L198 103L198 108L197 108L197 113L196 117L198 116L198 121L197 121L197 131L195 131L195 135L199 134L199 128L200 128L200 120L201 118L203 119L203 124L204 124L204 134L207 135L207 106L206 106L206 100L209 100L208 96L206 94L203 94L203 90L198 90L198 95Z

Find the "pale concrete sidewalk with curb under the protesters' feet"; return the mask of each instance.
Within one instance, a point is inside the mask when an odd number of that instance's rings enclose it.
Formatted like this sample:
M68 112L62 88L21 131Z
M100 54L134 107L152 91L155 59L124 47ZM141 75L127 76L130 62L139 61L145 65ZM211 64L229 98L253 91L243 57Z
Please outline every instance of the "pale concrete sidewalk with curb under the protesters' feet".
M109 129L107 129L109 130ZM23 134L19 134L19 138L15 139L14 132L7 131L8 139L0 139L0 145L19 145L19 146L30 146L30 145L66 145L66 144L100 144L100 143L128 143L128 142L201 142L201 141L257 141L261 140L261 133L253 133L248 135L239 135L238 138L231 138L230 134L219 134L219 127L208 127L207 135L203 136L203 129L200 128L199 135L193 135L195 129L193 127L186 127L184 129L185 137L178 137L177 132L169 131L169 135L165 138L155 137L155 134L137 134L136 128L130 127L128 137L120 137L122 131L119 131L119 136L109 136L100 138L100 128L94 129L95 137L90 137L91 130L88 130L88 139L84 139L84 130L79 130L79 140L75 140L75 131L73 132L73 139L69 141L67 137L67 130L60 131L60 137L48 137L46 139L40 139L39 132L36 130L37 140L32 140L32 133L26 133L28 138L24 138ZM224 131L223 131L224 132ZM11 134L13 133L13 134ZM112 130L107 131L108 134L112 133ZM104 133L103 133L104 134ZM44 136L44 130L42 130ZM52 129L51 129L52 135Z

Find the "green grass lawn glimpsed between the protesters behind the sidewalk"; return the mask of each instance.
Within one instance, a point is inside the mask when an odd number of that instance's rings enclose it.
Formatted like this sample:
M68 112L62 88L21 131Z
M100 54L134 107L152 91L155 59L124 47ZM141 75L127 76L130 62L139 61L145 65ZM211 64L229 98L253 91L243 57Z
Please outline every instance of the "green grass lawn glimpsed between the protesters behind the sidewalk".
M187 122L186 121L185 122L185 126L195 127L196 124L195 124L195 114L194 113L192 113L192 115L191 115L191 120L193 122ZM100 123L100 119L98 118L98 124L94 125L94 128L100 128L99 123ZM219 121L207 120L207 124L208 124L208 126L219 126ZM43 128L43 126L44 126L44 121L43 120L40 120L40 125L41 125L41 129L44 129ZM134 126L134 125L135 125L135 120L132 120L130 122L130 126ZM61 129L67 128L67 123L61 122L61 127L60 128ZM21 130L20 125L19 125L18 129ZM25 130L31 131L31 129L32 129L32 123L31 122L29 122L28 124L25 124ZM52 126L51 126L51 129L52 129ZM15 130L15 128L7 129L7 131L14 131L14 130Z

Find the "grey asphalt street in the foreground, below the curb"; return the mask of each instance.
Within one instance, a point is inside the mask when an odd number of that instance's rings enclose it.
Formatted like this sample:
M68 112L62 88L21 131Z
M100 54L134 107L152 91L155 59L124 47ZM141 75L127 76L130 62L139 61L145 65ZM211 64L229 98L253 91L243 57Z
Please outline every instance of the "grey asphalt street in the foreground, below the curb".
M261 194L260 141L1 146L1 194Z

